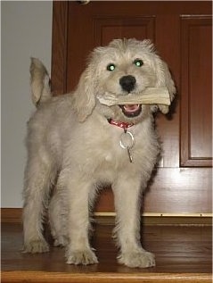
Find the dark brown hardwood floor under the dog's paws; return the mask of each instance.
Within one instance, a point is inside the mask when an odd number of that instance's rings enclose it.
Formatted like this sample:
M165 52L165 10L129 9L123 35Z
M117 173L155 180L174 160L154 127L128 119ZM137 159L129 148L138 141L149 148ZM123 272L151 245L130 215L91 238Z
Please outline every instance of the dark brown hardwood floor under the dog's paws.
M143 227L143 246L156 255L156 267L149 269L117 263L112 229L112 225L95 227L92 245L98 264L72 266L65 263L63 248L22 254L20 223L3 223L2 282L211 282L211 227Z

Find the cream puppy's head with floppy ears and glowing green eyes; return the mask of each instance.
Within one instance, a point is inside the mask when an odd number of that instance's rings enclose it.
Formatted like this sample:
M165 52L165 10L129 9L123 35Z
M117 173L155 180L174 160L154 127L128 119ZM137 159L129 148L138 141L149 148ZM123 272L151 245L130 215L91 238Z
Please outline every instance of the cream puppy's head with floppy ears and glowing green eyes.
M170 99L176 93L168 66L156 54L150 40L115 39L109 46L97 47L91 54L86 71L82 74L74 94L78 120L85 121L94 109L106 118L138 122L150 112L165 105L101 105L96 96L106 92L114 96L140 94L146 87L167 87ZM111 116L111 117L109 117Z

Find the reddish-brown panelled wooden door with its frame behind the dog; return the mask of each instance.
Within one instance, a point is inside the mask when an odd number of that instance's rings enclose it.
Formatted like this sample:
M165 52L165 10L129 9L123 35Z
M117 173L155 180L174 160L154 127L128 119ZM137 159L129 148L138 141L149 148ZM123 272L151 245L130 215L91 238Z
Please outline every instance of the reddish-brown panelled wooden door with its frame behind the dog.
M53 3L55 93L73 89L87 54L113 38L151 38L168 62L177 99L170 115L156 118L164 154L143 212L211 212L211 32L211 2ZM102 191L95 210L114 211L111 189Z

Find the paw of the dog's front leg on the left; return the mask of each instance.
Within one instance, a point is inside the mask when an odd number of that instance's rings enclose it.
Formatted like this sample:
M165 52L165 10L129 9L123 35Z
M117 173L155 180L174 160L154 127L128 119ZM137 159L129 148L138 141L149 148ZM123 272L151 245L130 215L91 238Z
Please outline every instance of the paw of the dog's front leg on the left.
M95 264L98 263L97 257L91 249L86 250L71 250L67 253L68 264Z

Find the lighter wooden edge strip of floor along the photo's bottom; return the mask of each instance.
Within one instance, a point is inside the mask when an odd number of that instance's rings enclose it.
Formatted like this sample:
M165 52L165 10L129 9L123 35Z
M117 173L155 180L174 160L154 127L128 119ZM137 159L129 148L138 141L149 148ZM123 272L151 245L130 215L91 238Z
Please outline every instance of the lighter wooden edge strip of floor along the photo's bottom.
M135 273L129 275L127 273L95 273L95 274L70 274L61 272L42 272L42 271L3 271L2 282L4 283L211 283L210 274L141 274Z

